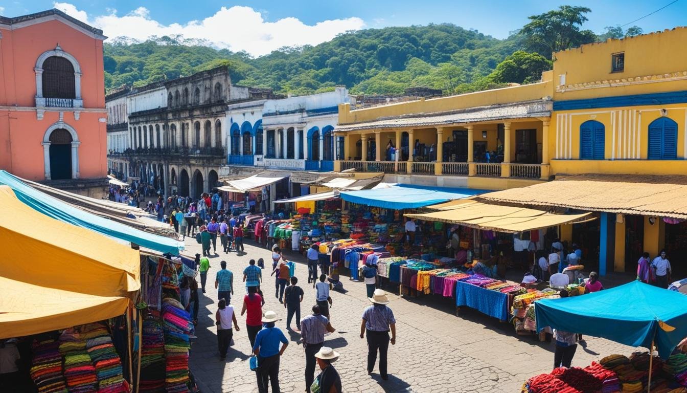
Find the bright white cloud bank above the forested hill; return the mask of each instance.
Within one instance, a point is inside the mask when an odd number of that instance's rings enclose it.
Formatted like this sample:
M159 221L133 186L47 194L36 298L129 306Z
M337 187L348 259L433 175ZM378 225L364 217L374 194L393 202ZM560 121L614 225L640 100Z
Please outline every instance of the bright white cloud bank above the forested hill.
M108 10L108 14L89 17L71 3L54 3L54 7L102 29L109 37L128 36L144 40L153 35L181 34L188 39L210 41L216 47L234 52L245 50L253 56L269 54L283 46L317 45L333 39L337 34L359 30L365 25L357 17L321 21L315 25L306 25L293 17L267 22L262 18L262 12L245 6L222 7L201 21L170 25L151 19L150 11L145 7L136 8L123 17L117 16L117 10Z

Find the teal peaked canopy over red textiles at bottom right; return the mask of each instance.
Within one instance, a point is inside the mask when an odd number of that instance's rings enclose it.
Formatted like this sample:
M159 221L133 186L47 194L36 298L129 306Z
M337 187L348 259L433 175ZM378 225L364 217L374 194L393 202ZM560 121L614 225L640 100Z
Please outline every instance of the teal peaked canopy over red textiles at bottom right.
M663 359L687 337L687 296L640 281L535 304L537 331L550 326L633 347L653 341Z

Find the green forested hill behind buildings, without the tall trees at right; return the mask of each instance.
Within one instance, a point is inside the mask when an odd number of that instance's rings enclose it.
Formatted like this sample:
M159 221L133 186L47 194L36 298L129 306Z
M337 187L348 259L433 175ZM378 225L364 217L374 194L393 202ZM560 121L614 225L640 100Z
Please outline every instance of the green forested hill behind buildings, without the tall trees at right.
M104 45L107 89L190 75L226 63L236 84L309 94L346 85L351 92L398 94L407 87L474 89L521 39L497 40L455 25L369 29L317 46L284 48L252 59L203 42L161 37Z

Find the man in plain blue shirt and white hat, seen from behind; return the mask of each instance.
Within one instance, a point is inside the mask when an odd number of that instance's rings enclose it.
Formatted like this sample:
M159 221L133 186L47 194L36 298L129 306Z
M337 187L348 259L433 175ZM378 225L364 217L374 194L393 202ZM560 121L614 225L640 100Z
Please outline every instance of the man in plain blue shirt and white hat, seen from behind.
M262 330L256 336L253 345L253 353L258 357L258 392L267 393L269 383L272 384L272 392L279 392L279 359L284 350L289 346L289 340L284 336L280 328L275 328L274 323L279 321L274 311L267 311L262 317ZM282 343L282 347L279 347Z

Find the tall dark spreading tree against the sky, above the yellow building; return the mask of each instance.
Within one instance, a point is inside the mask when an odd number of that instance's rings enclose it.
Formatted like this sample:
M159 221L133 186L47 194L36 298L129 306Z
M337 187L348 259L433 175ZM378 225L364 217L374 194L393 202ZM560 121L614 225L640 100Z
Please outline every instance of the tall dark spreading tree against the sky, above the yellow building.
M580 30L589 12L592 10L586 7L560 6L558 10L528 17L530 23L523 26L520 34L526 37L529 50L549 57L553 52L596 41L594 32Z

